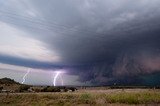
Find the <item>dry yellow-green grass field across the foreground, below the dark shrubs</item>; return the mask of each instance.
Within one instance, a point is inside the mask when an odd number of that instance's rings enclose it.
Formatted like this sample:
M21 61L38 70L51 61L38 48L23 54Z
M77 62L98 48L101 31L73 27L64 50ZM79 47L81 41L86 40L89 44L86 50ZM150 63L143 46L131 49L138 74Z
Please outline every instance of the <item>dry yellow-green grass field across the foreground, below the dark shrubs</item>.
M160 105L160 90L108 89L65 93L0 94L0 106Z

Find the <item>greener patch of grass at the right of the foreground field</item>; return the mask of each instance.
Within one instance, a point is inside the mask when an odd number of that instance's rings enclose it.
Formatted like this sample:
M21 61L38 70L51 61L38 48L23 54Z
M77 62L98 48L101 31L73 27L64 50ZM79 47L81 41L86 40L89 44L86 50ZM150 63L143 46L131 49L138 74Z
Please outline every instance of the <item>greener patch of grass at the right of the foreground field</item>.
M160 103L160 93L159 92L118 93L118 94L107 95L106 100L110 103L125 103L125 104Z

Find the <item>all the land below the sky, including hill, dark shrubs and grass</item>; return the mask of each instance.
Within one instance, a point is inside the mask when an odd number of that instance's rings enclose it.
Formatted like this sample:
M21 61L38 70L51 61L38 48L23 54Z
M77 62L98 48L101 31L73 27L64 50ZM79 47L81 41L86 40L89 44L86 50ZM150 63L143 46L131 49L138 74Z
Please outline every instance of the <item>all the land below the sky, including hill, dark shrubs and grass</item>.
M31 86L9 78L0 79L0 106L106 105L160 105L160 89L145 86Z

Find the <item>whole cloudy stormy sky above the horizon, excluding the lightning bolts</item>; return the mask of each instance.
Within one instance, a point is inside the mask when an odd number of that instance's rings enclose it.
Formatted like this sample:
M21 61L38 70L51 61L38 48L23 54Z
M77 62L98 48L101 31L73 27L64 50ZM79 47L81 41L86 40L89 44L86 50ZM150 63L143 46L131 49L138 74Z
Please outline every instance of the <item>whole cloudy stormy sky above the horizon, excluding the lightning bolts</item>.
M159 0L0 0L0 78L160 85ZM61 77L61 78L60 78Z

